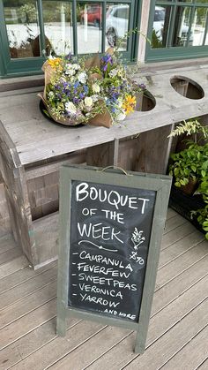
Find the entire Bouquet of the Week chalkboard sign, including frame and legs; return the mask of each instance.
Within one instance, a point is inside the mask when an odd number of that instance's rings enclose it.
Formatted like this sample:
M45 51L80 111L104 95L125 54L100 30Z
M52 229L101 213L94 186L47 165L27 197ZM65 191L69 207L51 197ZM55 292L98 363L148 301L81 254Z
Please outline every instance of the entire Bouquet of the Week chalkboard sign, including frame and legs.
M135 351L145 351L171 181L119 169L61 168L58 335L65 335L67 317L78 317L136 330Z

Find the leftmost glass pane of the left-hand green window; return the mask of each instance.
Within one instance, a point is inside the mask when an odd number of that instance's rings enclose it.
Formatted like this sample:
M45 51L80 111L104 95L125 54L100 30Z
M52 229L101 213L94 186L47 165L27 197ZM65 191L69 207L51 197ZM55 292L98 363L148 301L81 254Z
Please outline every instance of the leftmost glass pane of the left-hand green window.
M11 58L40 57L37 2L23 0L15 3L4 0L4 17Z

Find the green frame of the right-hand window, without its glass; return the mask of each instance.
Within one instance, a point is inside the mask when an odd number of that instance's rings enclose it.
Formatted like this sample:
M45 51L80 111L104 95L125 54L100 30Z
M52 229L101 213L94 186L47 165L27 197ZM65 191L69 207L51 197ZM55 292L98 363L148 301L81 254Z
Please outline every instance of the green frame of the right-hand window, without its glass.
M171 5L173 7L176 6L186 6L190 8L206 8L208 10L208 4L204 3L186 3L186 2L179 2L178 0L161 0L160 4L156 4L157 0L151 1L151 9L149 13L149 21L148 21L148 30L147 30L147 37L149 40L152 39L152 25L154 19L154 11L155 6L165 6ZM208 19L206 20L205 24L205 31L208 30ZM189 29L190 32L190 29ZM206 36L208 37L208 35ZM187 47L170 47L170 48L151 48L151 44L149 42L146 43L145 48L145 62L163 62L163 61L171 61L171 60L181 60L181 59L190 59L190 58L198 58L198 57L207 57L208 46L187 46Z

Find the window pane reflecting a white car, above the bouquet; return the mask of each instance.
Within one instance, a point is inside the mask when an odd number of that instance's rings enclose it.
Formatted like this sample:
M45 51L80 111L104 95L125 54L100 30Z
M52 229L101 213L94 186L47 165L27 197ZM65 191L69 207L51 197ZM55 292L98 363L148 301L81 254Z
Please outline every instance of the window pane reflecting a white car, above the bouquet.
M108 4L106 13L107 47L119 45L119 50L127 50L130 22L129 4Z

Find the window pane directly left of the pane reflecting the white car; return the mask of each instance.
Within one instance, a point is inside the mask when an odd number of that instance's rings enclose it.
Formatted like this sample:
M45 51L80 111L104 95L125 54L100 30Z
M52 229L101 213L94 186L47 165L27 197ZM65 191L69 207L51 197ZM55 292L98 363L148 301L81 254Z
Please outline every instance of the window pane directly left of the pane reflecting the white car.
M77 22L78 54L100 52L102 40L101 4L78 3Z

